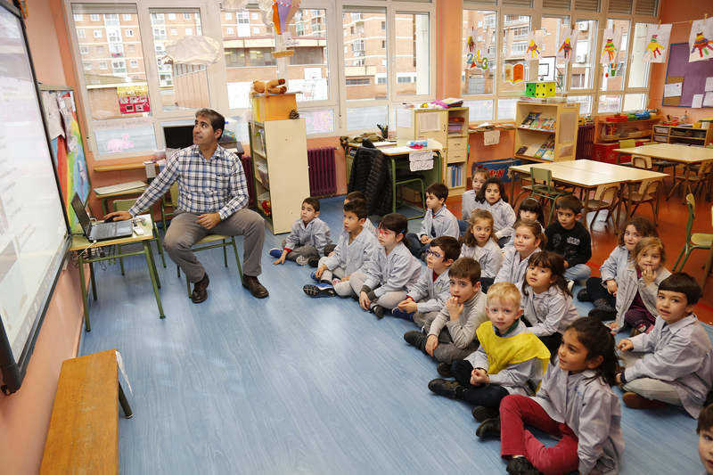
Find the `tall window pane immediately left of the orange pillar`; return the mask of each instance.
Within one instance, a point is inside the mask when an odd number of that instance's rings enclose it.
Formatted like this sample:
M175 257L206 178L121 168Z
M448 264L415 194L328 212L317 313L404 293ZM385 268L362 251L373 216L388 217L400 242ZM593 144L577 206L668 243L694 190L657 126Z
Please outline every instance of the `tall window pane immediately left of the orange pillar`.
M396 37L396 94L429 94L428 13L397 13ZM386 40L381 40L381 51L386 51Z

